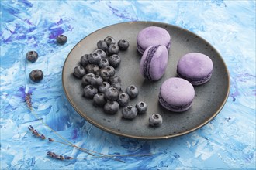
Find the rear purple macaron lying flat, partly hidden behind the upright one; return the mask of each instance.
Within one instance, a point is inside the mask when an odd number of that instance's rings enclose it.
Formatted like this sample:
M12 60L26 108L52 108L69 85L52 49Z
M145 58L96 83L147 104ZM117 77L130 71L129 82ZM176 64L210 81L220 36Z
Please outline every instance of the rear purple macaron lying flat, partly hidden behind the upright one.
M149 26L142 29L137 36L137 50L143 54L148 46L164 45L168 50L171 46L171 36L166 29Z

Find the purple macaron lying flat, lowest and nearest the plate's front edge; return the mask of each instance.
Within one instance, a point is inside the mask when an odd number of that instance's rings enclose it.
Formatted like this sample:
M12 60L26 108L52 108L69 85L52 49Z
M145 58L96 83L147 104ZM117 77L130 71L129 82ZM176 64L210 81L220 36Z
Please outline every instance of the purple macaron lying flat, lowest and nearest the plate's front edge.
M164 108L174 112L182 112L192 106L195 90L189 81L173 77L162 83L158 97Z

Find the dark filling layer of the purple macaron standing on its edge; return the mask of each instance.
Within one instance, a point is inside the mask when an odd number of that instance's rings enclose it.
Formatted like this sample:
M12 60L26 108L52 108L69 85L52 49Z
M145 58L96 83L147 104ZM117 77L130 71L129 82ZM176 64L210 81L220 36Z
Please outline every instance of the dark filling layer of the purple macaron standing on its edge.
M159 45L160 46L160 45ZM148 49L147 57L144 61L144 76L148 80L152 80L150 76L150 65L151 65L151 60L154 56L154 53L157 51L158 46L152 46L150 49Z

